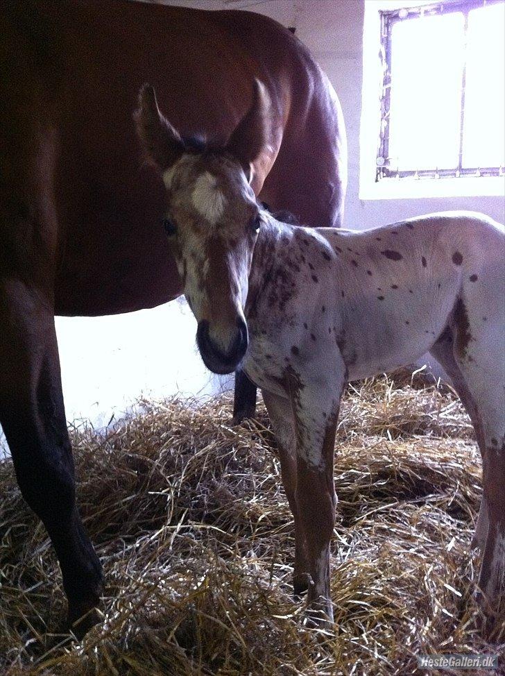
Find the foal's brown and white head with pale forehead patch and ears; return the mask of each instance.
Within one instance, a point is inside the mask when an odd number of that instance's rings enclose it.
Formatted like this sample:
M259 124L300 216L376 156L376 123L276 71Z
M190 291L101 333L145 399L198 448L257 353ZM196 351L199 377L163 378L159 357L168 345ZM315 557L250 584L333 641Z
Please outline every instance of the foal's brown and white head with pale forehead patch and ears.
M162 223L198 321L198 348L214 373L231 373L246 353L243 307L261 216L250 187L266 146L268 100L256 81L253 105L223 148L183 139L144 85L135 112L148 157L162 171L169 207Z

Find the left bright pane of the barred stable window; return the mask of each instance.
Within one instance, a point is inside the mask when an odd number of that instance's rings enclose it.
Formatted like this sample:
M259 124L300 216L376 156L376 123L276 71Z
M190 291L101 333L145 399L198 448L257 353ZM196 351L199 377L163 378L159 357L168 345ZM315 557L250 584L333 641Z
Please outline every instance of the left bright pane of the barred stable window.
M459 163L464 17L397 22L391 31L391 169Z

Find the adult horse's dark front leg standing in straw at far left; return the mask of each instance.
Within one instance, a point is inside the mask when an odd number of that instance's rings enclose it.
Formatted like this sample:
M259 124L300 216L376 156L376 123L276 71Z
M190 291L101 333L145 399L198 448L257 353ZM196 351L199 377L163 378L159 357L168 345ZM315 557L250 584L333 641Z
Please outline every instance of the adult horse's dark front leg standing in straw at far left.
M51 303L21 280L0 278L0 327L0 423L22 494L58 555L74 622L98 604L102 577L76 509ZM76 633L93 620L90 612Z

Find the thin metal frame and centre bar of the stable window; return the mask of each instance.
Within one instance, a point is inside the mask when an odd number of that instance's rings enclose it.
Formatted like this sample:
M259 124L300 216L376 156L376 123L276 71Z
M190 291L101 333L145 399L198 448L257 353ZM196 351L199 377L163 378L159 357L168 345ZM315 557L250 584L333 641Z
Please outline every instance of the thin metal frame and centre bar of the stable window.
M451 2L436 2L418 6L406 6L394 10L379 10L380 19L380 46L382 58L382 88L380 96L380 126L377 153L375 158L375 183L384 180L402 178L490 178L504 176L504 167L463 167L463 126L465 119L465 84L467 59L463 62L461 76L461 113L459 120L459 158L458 166L433 167L432 169L394 169L388 165L389 146L389 110L391 105L391 34L393 26L399 22L419 19L421 16L442 16L454 12L462 12L464 17L465 43L468 31L468 15L474 9L495 4L504 4L503 0L454 0ZM406 15L405 15L406 12Z

